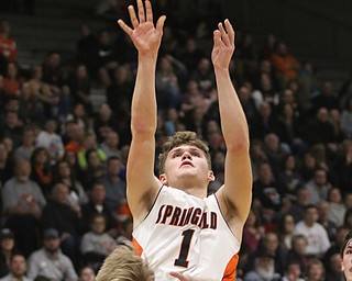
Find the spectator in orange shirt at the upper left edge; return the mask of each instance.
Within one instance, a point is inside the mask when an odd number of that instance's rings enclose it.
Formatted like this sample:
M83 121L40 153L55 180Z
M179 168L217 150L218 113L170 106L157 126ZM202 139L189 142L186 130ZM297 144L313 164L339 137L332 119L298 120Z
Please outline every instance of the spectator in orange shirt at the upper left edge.
M10 23L8 20L0 22L0 53L8 61L18 60L18 46L15 41L10 37Z

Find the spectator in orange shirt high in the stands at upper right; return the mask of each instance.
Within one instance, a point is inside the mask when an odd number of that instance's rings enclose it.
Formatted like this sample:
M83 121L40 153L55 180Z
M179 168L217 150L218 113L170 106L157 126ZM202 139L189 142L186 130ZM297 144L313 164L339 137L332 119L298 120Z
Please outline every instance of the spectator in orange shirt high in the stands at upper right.
M285 43L277 43L275 52L272 54L271 61L282 86L285 86L289 80L296 79L300 65L299 61L288 53Z

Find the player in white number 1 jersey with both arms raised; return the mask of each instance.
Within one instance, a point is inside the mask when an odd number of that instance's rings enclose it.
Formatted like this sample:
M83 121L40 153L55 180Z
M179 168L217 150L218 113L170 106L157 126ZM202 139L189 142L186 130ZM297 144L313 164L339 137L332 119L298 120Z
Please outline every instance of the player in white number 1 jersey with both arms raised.
M195 133L178 132L164 145L160 176L154 176L155 69L166 18L154 25L151 2L144 4L138 0L138 13L129 7L132 27L119 20L139 53L127 164L134 246L157 281L177 280L179 274L201 281L233 280L252 199L248 124L229 74L235 34L229 20L213 32L211 59L227 157L224 184L207 198L215 176L209 149Z

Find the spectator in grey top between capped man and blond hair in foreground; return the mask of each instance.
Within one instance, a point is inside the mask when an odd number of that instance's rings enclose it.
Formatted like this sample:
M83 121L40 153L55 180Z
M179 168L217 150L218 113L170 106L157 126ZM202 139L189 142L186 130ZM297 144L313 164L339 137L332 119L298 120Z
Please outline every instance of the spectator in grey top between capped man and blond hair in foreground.
M117 247L117 241L106 233L106 218L102 214L96 214L90 222L90 231L81 237L80 252L84 263L96 272L103 260Z

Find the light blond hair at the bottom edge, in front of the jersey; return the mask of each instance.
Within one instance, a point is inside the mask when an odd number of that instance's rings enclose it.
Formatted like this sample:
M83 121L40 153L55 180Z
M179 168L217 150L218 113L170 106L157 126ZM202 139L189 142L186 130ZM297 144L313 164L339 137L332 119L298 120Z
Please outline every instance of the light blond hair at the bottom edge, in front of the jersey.
M154 281L154 272L133 249L119 245L105 260L96 281Z

